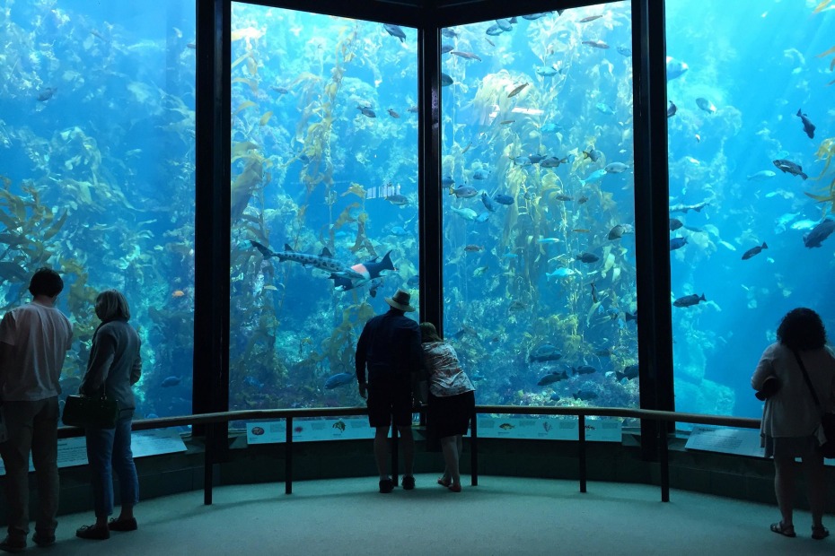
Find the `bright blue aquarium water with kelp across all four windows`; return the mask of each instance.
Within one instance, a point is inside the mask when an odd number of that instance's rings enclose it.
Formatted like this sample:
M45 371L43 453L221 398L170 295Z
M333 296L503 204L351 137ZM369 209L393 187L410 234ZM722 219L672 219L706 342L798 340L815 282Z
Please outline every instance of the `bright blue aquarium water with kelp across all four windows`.
M16 197L31 204L24 187L38 191L24 220L45 250L10 248L2 261L65 274L60 303L77 336L67 378L86 364L95 292L125 291L143 339L138 413L189 413L194 1L3 6L0 32L13 46L0 58L0 171ZM708 201L672 215L686 226L672 237L688 243L672 252L671 301L707 299L673 308L681 411L758 415L749 378L779 318L807 305L835 326L835 239L804 248L790 227L822 217L804 192L827 181L815 180L815 152L835 117L831 56L816 57L833 46L833 15L812 12L786 0L667 2L668 54L689 66L669 83L670 204ZM637 406L637 379L620 375L637 363L629 3L518 18L487 34L495 23L442 41L463 55L442 58L453 80L441 99L443 174L478 195L441 192L439 325L481 404ZM325 381L352 371L356 337L386 296L403 287L418 304L417 33L402 28L401 41L380 23L238 3L232 29L231 407L362 404L355 387ZM524 161L531 155L559 164ZM777 158L810 178L780 172ZM602 171L611 163L624 171ZM760 170L776 175L747 178ZM405 198L385 198L395 192ZM482 192L513 204L494 200L491 213ZM16 218L10 198L0 204ZM48 220L32 210L67 211L66 222L47 238ZM616 225L626 228L610 239ZM253 240L328 248L346 266L391 251L397 270L338 291L329 273L265 259ZM768 249L742 260L763 241ZM8 268L4 307L25 300ZM551 361L534 361L543 350ZM170 377L181 381L163 387Z

